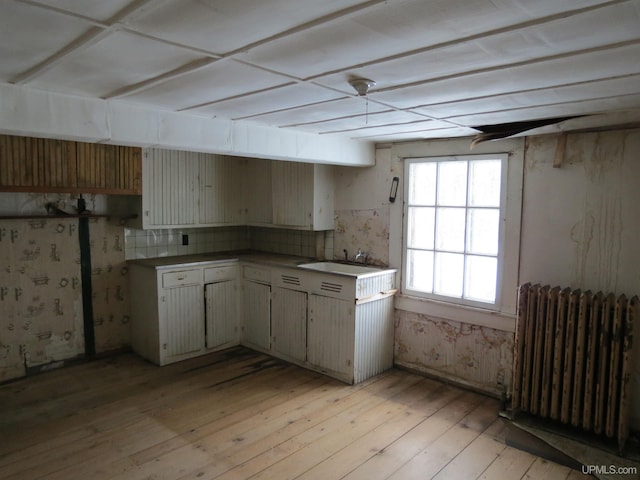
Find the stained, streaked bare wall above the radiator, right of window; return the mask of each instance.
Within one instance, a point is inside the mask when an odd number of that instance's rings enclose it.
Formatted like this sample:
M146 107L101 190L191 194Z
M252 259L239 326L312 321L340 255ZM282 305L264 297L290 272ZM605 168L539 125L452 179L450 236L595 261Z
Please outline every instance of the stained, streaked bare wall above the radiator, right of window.
M527 139L521 283L640 295L640 130L568 135L553 168L557 140ZM632 417L640 429L637 341L634 348Z

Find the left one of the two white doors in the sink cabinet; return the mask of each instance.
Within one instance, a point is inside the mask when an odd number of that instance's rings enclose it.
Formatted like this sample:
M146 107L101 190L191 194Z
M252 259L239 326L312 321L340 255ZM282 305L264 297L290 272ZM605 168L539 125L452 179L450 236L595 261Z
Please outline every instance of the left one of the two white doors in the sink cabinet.
M307 354L307 293L273 287L271 350L304 361Z

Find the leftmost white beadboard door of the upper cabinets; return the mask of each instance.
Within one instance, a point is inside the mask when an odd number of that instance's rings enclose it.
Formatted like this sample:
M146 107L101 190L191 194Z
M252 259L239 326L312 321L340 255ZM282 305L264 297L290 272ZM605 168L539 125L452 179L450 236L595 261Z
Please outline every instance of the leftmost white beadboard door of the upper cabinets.
M192 152L149 149L143 161L144 228L194 226L199 221L199 157Z

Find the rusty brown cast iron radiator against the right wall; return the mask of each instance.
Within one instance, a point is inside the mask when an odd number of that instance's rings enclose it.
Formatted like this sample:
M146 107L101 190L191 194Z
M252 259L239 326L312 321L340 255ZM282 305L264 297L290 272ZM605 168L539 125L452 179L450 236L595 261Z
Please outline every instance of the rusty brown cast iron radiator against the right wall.
M522 285L514 415L526 412L606 435L622 450L629 436L632 327L639 314L637 296Z

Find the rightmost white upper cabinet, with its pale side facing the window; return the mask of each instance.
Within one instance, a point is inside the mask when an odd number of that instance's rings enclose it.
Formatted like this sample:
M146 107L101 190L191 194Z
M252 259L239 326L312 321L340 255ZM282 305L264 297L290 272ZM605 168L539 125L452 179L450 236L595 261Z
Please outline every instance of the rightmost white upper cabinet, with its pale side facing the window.
M273 224L304 230L333 229L333 185L329 165L272 162Z

